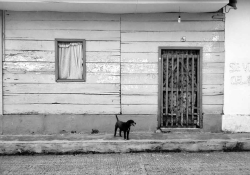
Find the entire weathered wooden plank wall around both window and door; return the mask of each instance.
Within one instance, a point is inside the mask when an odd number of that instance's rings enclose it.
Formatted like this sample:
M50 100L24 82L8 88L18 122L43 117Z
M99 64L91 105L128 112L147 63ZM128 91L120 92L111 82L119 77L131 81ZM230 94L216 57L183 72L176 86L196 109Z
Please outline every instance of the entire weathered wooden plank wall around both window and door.
M159 46L203 47L203 110L220 114L225 26L213 15L7 12L4 114L157 114ZM86 39L86 82L55 82L55 38Z

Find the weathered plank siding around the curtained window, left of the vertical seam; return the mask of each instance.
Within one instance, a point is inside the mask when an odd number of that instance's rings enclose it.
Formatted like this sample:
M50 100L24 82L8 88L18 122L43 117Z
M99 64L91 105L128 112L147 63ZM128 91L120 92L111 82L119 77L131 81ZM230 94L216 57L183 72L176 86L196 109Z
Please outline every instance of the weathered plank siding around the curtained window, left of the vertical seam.
M55 38L86 40L86 82L55 81ZM5 114L119 114L120 16L7 12Z

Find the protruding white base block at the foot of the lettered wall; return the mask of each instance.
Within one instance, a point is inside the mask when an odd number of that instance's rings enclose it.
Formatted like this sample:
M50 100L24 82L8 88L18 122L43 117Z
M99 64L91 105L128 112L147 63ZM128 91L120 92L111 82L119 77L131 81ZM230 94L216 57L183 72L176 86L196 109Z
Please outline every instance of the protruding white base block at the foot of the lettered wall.
M222 130L228 132L250 132L250 115L223 115Z

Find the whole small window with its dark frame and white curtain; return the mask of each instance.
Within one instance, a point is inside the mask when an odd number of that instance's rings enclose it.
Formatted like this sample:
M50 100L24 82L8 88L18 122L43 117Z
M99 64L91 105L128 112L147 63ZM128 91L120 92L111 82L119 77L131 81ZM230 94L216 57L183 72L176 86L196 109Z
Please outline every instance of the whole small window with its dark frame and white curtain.
M56 39L56 81L86 81L85 40Z

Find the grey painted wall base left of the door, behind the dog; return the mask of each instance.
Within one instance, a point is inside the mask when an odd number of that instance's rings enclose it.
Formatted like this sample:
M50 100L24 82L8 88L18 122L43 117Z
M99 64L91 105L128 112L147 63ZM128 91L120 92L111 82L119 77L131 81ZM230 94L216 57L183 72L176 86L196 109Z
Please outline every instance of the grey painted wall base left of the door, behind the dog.
M132 132L153 132L157 128L156 115L118 115L121 121L133 119L136 126ZM91 133L98 129L100 133L113 133L115 115L2 115L0 116L0 134L60 134Z

